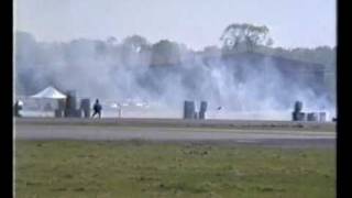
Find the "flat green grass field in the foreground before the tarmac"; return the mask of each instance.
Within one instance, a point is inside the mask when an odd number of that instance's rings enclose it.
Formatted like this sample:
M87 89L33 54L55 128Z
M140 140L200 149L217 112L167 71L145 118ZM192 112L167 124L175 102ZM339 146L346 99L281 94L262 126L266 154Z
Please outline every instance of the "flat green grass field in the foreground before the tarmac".
M16 141L15 197L336 195L333 148Z

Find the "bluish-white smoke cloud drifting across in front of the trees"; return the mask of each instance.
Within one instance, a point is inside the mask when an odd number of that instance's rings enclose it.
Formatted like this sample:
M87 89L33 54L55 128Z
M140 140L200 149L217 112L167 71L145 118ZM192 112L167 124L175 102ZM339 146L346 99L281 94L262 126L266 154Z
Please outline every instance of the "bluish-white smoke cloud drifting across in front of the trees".
M300 100L306 110L334 114L323 81L311 77L306 82L304 75L293 78L280 69L293 65L283 65L286 62L282 64L274 56L240 54L223 58L219 53L206 55L177 45L177 51L167 55L179 57L176 64L154 64L160 54L153 46L109 40L38 43L20 32L15 45L16 92L32 95L52 85L76 90L80 97L146 101L178 113L185 100L205 100L210 110L221 107L229 114L290 113L294 102Z

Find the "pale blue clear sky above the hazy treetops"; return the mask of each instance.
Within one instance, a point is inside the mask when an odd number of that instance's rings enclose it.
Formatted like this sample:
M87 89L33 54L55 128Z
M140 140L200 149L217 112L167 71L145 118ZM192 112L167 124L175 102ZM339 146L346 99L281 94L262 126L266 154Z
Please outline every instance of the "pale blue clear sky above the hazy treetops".
M274 46L336 46L334 0L14 0L14 30L41 42L133 34L220 46L231 23L266 25Z

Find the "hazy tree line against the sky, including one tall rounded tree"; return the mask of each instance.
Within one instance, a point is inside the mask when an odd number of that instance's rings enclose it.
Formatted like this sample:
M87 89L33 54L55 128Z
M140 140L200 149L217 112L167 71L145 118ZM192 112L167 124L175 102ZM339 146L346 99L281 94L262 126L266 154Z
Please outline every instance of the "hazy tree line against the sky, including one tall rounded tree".
M315 48L273 47L274 40L265 25L233 23L228 25L220 38L221 46L209 45L195 51L187 45L169 40L151 43L142 35L131 35L121 41L110 36L106 40L78 38L70 42L38 42L28 32L15 32L15 82L16 92L28 94L37 89L37 79L43 85L52 82L63 69L75 65L103 63L108 70L177 66L195 63L209 56L220 57L231 53L262 53L309 63L318 63L334 74L336 47ZM89 67L91 69L94 66ZM87 67L88 68L88 67ZM31 74L31 75L29 75ZM333 87L336 76L330 76ZM331 88L333 89L333 88ZM32 91L31 91L32 90Z

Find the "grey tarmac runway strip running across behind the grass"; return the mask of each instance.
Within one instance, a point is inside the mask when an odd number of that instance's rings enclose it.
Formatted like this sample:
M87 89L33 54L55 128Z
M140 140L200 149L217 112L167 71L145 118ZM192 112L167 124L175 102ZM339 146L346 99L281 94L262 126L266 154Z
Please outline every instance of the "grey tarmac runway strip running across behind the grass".
M20 118L15 140L191 142L334 147L336 123L182 119Z

